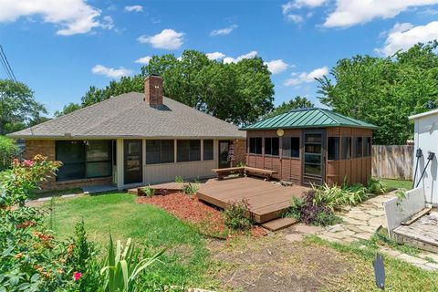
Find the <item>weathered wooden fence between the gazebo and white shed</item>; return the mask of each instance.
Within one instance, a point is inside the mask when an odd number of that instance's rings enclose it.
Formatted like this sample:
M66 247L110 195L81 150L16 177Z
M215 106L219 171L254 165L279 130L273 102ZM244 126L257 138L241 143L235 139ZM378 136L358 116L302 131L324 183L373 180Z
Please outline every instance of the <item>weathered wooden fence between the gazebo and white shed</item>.
M412 180L413 145L373 145L372 176Z

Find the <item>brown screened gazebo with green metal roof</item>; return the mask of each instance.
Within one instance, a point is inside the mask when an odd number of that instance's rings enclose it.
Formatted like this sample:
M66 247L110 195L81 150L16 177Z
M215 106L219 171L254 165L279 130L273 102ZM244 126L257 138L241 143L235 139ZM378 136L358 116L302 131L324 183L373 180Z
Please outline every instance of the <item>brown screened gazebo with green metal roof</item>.
M304 185L367 183L371 134L377 127L330 110L291 110L246 130L248 166L275 170Z

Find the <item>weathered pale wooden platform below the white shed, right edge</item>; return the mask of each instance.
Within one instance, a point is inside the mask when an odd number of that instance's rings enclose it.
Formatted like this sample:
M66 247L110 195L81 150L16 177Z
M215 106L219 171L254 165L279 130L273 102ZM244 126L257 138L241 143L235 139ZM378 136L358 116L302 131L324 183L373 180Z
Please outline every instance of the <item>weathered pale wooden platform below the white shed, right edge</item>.
M438 253L438 213L423 215L410 225L394 229L395 240L404 245Z

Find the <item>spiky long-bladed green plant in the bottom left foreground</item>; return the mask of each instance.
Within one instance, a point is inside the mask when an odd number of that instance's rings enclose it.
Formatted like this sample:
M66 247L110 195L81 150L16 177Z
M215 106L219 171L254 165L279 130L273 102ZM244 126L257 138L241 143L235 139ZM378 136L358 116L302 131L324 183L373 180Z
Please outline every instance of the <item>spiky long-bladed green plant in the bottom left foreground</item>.
M150 258L140 259L140 252L138 249L134 249L130 238L125 246L121 245L120 240L118 240L114 250L110 235L107 259L100 270L100 275L105 278L103 290L108 292L134 291L137 277L144 269L160 261L159 257L165 251L166 249L162 249Z

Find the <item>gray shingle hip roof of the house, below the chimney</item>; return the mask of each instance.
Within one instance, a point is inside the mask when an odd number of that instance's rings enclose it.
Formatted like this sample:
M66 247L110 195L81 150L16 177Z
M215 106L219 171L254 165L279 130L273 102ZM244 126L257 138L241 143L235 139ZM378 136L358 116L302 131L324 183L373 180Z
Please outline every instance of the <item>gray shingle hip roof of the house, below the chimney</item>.
M245 138L245 132L224 120L173 99L151 108L138 92L121 94L34 127L12 138Z

